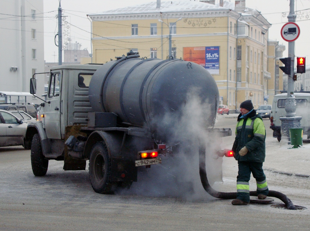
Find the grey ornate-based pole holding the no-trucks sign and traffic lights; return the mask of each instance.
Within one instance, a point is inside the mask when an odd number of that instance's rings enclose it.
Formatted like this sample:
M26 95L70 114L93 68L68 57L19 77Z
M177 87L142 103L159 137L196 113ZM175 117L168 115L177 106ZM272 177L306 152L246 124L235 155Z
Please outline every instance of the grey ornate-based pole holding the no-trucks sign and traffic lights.
M289 22L295 22L294 0L290 0L290 13L287 16ZM290 58L290 73L287 73L287 98L285 101L286 116L280 117L282 136L290 139L290 128L300 128L301 116L296 116L296 100L294 97L294 60L295 41L289 42L288 57Z

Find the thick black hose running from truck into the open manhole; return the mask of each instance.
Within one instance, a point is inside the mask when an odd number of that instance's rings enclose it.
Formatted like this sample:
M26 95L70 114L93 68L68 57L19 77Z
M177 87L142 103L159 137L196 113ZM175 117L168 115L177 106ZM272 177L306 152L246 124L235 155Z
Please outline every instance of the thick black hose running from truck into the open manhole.
M214 190L208 181L207 172L206 172L206 146L199 144L199 175L203 188L206 190L208 194L215 198L219 199L235 199L237 198L237 193L223 193ZM250 191L250 196L257 196L256 191ZM296 210L296 207L292 203L292 201L283 193L269 190L269 197L276 197L283 201L286 205L287 209Z

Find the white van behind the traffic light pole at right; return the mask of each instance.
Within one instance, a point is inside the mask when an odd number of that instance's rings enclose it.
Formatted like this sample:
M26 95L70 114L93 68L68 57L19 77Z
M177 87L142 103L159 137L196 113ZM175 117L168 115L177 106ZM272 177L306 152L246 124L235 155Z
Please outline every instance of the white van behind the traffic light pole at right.
M310 138L310 93L295 92L296 116L302 116L300 127L303 128L303 134ZM286 116L285 100L287 93L281 93L274 96L271 108L270 128L273 130L273 137L281 140L281 120L280 117Z

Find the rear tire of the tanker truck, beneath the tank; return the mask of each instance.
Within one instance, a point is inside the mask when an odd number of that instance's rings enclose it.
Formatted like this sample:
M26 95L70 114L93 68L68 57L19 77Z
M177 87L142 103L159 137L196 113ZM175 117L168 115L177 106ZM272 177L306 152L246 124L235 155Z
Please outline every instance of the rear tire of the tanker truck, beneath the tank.
M89 157L89 178L96 193L113 193L111 177L111 160L104 142L97 142L91 149Z

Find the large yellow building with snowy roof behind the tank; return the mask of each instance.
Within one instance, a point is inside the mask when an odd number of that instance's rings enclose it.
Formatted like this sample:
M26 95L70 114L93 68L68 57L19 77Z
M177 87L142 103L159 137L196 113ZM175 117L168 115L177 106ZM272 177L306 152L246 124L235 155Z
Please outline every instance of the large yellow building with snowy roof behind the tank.
M267 69L271 24L245 3L154 0L89 15L92 62L105 63L130 50L146 58L192 61L212 74L221 103L232 112L246 99L257 108L268 98L266 88L273 78Z

